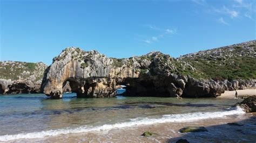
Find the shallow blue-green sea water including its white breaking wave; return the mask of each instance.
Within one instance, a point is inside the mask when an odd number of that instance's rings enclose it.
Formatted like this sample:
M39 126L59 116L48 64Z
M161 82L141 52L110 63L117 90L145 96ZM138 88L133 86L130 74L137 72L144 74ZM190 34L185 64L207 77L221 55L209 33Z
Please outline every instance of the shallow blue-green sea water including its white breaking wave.
M123 97L49 99L44 94L0 96L0 141L44 138L130 126L243 115L239 99Z

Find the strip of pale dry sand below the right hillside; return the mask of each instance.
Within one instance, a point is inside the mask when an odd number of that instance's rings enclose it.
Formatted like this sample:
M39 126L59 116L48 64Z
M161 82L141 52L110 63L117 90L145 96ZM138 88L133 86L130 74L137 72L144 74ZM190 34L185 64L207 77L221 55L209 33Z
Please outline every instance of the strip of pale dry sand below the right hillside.
M244 89L237 90L238 96L242 95L256 95L256 89ZM221 94L218 98L235 98L235 91L225 91L224 94Z

